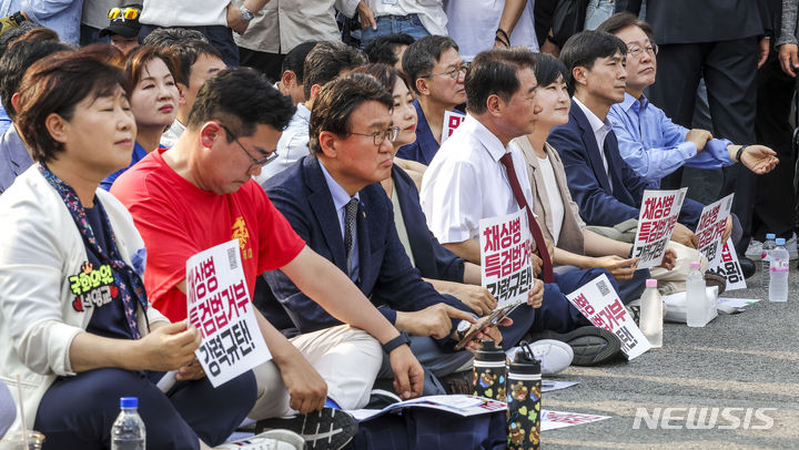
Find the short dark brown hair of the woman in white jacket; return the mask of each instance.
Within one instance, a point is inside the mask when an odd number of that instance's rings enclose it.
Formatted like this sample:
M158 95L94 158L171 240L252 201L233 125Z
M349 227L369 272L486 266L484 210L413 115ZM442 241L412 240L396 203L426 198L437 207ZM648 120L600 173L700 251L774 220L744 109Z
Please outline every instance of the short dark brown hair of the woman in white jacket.
M122 69L87 52L57 52L33 63L19 88L17 117L17 126L33 160L47 163L63 151L63 144L57 142L45 126L50 114L71 121L75 105L83 99L112 94L117 86L124 84Z

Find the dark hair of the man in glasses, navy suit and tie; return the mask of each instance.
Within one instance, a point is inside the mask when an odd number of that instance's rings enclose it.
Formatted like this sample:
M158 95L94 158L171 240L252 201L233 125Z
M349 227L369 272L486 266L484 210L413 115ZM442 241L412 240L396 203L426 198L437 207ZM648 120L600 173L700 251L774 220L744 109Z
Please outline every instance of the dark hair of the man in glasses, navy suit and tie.
M388 111L394 106L394 100L383 83L365 73L348 73L325 84L311 110L311 153L317 155L322 152L318 141L321 132L330 131L340 136L350 133L353 111L370 101L384 104Z

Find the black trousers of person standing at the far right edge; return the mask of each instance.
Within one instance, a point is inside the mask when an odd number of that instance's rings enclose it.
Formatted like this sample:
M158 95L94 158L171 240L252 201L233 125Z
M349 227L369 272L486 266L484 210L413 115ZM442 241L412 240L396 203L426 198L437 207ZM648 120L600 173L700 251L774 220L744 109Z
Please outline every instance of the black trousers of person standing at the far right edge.
M771 50L757 76L758 143L777 152L780 163L770 173L757 178L757 201L752 221L752 238L766 239L766 233L791 237L793 233L793 129L788 122L796 80L782 72L776 50Z

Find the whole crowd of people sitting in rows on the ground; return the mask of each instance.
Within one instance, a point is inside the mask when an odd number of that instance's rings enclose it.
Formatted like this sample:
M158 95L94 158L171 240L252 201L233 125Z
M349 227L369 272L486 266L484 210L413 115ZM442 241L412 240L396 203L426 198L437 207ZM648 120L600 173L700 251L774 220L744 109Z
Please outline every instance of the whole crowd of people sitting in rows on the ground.
M607 275L629 305L647 278L680 292L691 262L707 268L690 198L663 263L637 267L618 229L635 229L644 191L682 165L778 163L649 103L657 45L631 14L575 34L559 59L471 42L468 63L452 38L368 27L363 52L295 45L274 80L230 67L230 48L201 32L156 29L139 45L129 27L101 32L120 49L37 27L1 48L0 380L20 380L24 426L49 448L108 448L117 405L98 399L133 395L149 448L338 449L357 430L344 410L385 400L375 388L471 393L483 339L530 342L544 375L607 362L619 339L567 294ZM465 119L445 136L447 112ZM497 306L479 223L522 208L526 303L455 349ZM740 239L732 218L728 236ZM214 388L185 268L234 237L272 359Z

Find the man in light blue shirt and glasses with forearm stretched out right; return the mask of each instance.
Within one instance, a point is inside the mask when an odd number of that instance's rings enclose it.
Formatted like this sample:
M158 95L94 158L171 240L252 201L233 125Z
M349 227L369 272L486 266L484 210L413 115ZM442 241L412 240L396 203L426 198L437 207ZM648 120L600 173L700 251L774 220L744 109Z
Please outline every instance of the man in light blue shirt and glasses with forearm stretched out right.
M650 41L651 32L644 29L648 28L645 22L636 21L621 28L613 25L609 20L598 30L607 29L627 44L627 84L624 101L610 108L608 120L618 139L621 157L649 183L649 187L659 187L660 178L682 165L716 168L740 160L757 174L773 168L778 160L771 149L736 145L728 140L714 139L706 130L688 130L672 123L660 109L649 103L644 90L655 83L657 73L657 45Z

